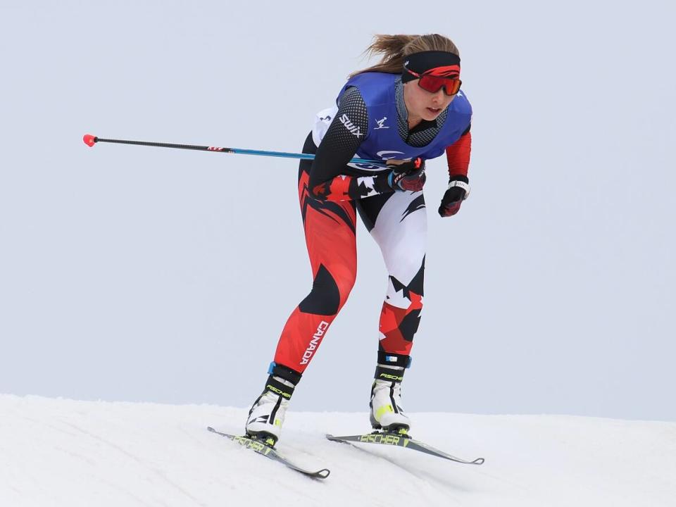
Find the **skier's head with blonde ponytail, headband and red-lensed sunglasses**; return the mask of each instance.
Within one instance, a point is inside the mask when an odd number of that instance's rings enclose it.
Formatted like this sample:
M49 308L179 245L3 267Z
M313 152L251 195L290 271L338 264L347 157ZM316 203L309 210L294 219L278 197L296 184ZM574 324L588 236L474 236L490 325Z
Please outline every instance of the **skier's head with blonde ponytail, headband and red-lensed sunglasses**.
M351 76L401 74L409 120L434 120L460 89L460 51L443 35L376 35L365 53L382 54L382 59Z

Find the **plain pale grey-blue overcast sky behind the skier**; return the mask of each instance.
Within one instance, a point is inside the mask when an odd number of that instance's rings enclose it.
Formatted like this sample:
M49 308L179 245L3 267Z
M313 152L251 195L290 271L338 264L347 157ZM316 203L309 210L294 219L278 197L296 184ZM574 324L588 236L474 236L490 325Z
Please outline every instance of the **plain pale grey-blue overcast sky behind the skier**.
M249 406L311 287L287 159L375 33L439 32L474 108L436 213L408 411L676 420L670 1L0 2L0 392ZM294 395L366 411L387 287L358 280ZM211 421L218 424L218 421ZM244 421L242 421L244 423Z

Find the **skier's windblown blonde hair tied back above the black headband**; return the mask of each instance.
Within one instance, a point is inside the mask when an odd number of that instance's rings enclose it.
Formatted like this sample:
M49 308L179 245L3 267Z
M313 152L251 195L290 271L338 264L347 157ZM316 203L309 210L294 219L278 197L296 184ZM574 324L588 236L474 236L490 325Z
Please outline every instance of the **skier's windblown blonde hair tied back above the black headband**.
M373 42L364 51L366 56L382 54L380 63L357 70L348 78L365 72L400 74L406 56L420 51L446 51L460 56L458 47L448 37L439 34L427 35L374 35Z

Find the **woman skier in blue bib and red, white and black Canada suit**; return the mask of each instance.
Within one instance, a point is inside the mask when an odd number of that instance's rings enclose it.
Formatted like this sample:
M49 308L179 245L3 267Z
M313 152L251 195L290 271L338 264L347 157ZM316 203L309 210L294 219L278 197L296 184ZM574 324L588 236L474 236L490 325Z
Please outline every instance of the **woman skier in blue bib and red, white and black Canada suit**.
M284 413L356 277L356 211L380 246L389 273L370 395L370 423L406 434L401 380L411 365L423 308L427 213L425 160L446 154L449 187L439 215L460 209L470 187L472 108L461 92L458 48L441 35L377 35L377 65L354 73L337 107L318 113L301 161L298 193L313 273L312 290L287 320L246 433L274 445ZM354 156L387 168L349 163Z

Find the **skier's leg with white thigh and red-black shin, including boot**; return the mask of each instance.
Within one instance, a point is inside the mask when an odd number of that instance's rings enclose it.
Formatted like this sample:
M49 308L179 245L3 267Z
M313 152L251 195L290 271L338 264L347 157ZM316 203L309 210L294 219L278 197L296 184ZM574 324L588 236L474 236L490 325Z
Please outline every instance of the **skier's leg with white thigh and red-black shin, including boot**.
M362 199L358 211L388 271L380 313L380 344L371 389L371 424L410 427L401 409L401 380L411 363L413 337L423 309L427 212L423 192L394 192Z

